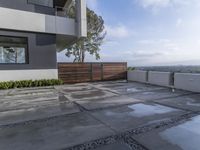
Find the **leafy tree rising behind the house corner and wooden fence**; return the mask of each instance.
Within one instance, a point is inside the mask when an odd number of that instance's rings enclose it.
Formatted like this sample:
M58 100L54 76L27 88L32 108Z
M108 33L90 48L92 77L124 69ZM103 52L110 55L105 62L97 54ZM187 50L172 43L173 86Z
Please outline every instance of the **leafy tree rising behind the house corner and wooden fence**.
M80 38L75 44L69 46L66 56L74 56L74 62L84 62L86 53L95 56L96 60L100 59L100 46L105 36L103 18L87 8L87 37Z

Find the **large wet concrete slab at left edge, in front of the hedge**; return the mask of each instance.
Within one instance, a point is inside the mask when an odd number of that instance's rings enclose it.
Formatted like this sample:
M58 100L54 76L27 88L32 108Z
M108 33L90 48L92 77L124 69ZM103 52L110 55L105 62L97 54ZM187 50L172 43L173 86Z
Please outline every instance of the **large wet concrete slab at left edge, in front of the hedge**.
M79 108L64 96L1 99L0 125L49 118L80 112Z

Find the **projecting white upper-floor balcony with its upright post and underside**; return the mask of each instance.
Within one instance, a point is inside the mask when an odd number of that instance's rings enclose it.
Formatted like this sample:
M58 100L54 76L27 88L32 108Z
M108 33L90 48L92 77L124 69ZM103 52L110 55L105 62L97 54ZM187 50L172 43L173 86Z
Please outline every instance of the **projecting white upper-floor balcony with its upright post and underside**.
M57 49L60 51L77 38L86 36L85 1L77 0L76 9L78 11L75 19L62 14L63 11L56 11L53 16L0 7L0 29L56 34Z

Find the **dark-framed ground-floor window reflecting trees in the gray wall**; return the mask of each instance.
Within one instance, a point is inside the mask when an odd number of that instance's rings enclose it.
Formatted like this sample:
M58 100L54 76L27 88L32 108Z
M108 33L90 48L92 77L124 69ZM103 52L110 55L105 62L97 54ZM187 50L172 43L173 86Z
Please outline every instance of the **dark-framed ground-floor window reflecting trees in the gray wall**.
M27 63L27 38L0 36L0 64Z

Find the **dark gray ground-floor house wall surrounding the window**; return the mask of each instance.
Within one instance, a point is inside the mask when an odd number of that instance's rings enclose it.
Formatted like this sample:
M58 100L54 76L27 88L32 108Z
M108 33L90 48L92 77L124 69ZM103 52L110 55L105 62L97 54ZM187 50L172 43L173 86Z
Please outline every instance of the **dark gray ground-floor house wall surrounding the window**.
M0 30L0 35L28 38L28 64L0 64L0 70L57 69L56 35L11 32Z

